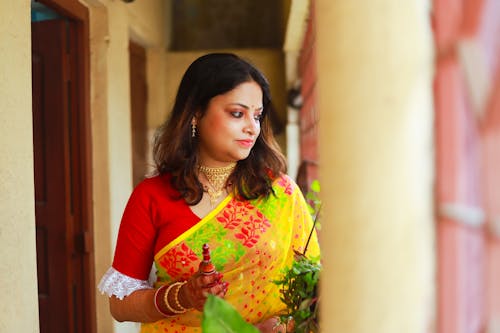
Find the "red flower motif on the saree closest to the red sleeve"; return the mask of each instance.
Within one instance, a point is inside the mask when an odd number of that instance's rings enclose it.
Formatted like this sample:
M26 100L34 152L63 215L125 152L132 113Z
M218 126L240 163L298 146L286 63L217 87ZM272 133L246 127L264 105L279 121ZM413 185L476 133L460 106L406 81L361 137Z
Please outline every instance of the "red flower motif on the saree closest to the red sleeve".
M168 275L188 279L196 272L198 261L196 253L185 243L181 243L180 246L172 248L168 252L168 256L163 256L160 259L160 264ZM188 267L187 270L186 267Z

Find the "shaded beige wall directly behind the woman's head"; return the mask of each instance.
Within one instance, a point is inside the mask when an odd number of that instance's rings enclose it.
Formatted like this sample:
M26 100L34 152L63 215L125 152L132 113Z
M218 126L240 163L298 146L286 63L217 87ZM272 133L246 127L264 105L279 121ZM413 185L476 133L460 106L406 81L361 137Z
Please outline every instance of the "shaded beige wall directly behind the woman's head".
M168 52L166 55L166 109L151 114L151 126L159 126L167 117L174 104L175 94L182 75L189 65L199 56L214 52L213 50L198 52ZM269 80L274 106L281 121L286 123L286 83L284 55L280 50L268 49L237 49L217 50L216 52L232 52L252 62ZM276 136L283 152L286 152L285 131Z

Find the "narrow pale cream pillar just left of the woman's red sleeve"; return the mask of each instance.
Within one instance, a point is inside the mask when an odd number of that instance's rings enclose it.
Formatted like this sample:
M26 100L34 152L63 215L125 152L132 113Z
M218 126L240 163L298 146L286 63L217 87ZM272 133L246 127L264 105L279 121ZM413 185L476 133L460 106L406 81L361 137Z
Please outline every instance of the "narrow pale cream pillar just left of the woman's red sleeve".
M130 117L129 25L126 5L108 7L108 159L111 248L114 250L123 209L132 191L132 137ZM111 262L109 263L111 265ZM114 322L114 332L136 333L139 324Z

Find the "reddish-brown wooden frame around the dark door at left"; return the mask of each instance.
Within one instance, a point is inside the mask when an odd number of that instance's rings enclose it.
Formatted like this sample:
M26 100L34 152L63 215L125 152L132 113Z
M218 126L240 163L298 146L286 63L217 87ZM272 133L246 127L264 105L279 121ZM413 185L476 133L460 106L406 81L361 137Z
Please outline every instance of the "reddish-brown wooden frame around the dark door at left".
M84 298L84 321L88 323L88 333L97 332L95 300L95 260L94 260L94 223L92 209L92 140L90 123L90 46L89 46L89 11L78 0L37 0L72 19L76 23L77 59L76 77L78 81L78 109L75 116L78 121L78 160L81 168L81 221L83 224L82 246L88 251L83 258L84 286L87 297Z

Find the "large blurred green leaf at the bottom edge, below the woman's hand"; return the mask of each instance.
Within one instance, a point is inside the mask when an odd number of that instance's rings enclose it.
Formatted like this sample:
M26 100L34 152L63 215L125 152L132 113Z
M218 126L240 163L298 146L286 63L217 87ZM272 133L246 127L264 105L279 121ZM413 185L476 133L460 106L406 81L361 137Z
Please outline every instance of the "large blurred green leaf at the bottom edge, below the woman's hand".
M259 333L231 304L214 295L208 295L203 307L201 329L203 333Z

